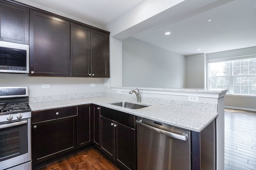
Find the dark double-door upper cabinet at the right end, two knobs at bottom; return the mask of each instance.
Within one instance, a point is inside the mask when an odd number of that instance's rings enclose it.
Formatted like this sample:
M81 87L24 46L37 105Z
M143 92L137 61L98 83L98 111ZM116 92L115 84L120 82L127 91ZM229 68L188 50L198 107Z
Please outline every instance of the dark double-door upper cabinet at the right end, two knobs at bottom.
M70 24L71 76L109 77L109 34Z

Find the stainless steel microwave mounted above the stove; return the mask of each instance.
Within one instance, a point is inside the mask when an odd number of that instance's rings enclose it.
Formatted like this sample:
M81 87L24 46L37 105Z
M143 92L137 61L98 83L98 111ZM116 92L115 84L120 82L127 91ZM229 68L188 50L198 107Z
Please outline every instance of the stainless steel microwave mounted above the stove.
M28 73L29 45L0 41L0 72Z

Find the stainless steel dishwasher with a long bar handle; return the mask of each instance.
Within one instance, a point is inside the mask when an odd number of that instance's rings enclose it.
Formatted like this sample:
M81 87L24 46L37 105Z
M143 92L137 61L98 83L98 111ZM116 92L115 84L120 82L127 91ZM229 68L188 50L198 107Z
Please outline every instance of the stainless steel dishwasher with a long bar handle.
M190 170L190 131L137 117L138 170Z

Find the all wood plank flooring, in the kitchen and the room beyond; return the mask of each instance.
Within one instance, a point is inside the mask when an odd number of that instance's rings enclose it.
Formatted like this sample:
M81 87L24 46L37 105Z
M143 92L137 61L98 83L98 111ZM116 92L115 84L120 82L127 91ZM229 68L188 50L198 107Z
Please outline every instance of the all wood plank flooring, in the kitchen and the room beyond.
M225 170L256 170L256 112L225 109ZM35 170L119 170L94 147Z

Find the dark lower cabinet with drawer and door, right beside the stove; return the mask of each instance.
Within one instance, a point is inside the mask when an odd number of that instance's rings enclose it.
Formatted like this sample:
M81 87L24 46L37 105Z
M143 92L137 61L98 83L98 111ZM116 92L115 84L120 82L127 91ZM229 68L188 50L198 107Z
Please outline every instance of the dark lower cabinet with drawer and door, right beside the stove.
M76 148L76 106L32 112L33 164Z

